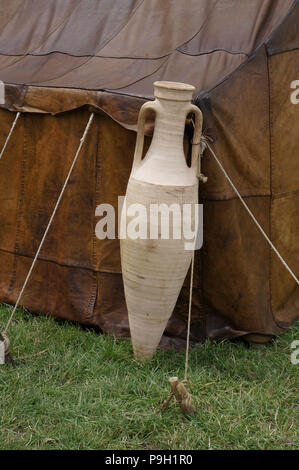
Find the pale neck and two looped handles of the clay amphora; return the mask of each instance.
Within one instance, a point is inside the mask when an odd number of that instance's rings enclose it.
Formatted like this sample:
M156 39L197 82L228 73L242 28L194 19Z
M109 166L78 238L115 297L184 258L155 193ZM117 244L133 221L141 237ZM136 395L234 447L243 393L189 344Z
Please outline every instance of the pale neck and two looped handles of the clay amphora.
M200 133L198 108L191 104L194 87L184 83L155 82L155 101L146 103L139 115L140 126L131 176L156 185L193 186L196 177L198 147L193 147L189 167L184 154L184 131L188 113L195 114ZM155 112L154 135L146 156L142 159L143 129L147 109ZM142 138L140 137L142 135ZM138 140L139 139L139 140ZM194 150L197 149L197 150Z

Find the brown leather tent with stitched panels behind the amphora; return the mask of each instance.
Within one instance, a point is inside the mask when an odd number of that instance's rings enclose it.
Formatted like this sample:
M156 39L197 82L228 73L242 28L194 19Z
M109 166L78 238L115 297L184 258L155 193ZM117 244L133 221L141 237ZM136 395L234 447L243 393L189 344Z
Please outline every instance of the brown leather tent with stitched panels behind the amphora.
M22 303L129 335L119 243L96 238L95 208L125 194L156 80L196 87L204 134L298 273L298 24L295 0L0 0L0 148L22 113L0 161L0 301L16 301L93 110ZM267 341L298 316L298 286L208 152L202 165L191 338ZM164 346L184 342L188 285Z

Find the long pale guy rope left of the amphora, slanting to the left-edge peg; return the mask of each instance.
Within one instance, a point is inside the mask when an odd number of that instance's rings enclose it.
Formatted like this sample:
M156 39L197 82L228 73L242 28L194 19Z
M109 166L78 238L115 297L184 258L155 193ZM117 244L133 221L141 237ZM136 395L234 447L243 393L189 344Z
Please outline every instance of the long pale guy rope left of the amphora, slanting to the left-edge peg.
M15 313L16 313L16 310L17 310L17 308L18 308L18 306L19 306L19 304L20 304L20 301L21 301L22 295L23 295L23 293L24 293L24 290L25 290L25 288L26 288L26 286L27 286L27 283L28 283L28 281L29 281L29 279L30 279L31 273L32 273L33 268L34 268L34 266L35 266L35 263L36 263L36 261L37 261L37 259L38 259L38 256L39 256L39 254L40 254L40 251L41 251L41 249L42 249L42 246L43 246L43 244L44 244L44 241L45 241L45 239L46 239L46 236L47 236L47 234L48 234L48 232L49 232L49 229L50 229L50 227L51 227L51 225L52 225L53 219L54 219L54 217L55 217L55 215L56 215L58 206L59 206L59 204L60 204L60 202L61 202L61 199L62 199L62 196L63 196L63 194L64 194L64 191L65 191L65 189L66 189L66 187L67 187L67 184L68 184L69 179L70 179L70 177L71 177L71 174L72 174L72 172L73 172L75 163L76 163L76 161L77 161L77 159L78 159L78 156L79 156L79 154L80 154L81 148L82 148L82 146L83 146L83 144L84 144L84 141L85 141L85 139L86 139L86 136L87 136L88 130L89 130L90 126L91 126L91 123L92 123L93 118L94 118L94 113L92 113L92 114L90 115L90 118L89 118L88 123L87 123L87 125L86 125L86 127L85 127L85 130L84 130L83 136L82 136L82 138L80 139L80 144L79 144L78 149L77 149L77 152L76 152L76 154L75 154L75 156L74 156L74 159L73 159L73 162L72 162L72 164L71 164L70 170L69 170L69 172L68 172L68 174L67 174L67 177L66 177L66 179L65 179L64 185L63 185L62 190L61 190L61 192L60 192L60 194L59 194L58 200L57 200L56 205L55 205L55 207L54 207L54 209L53 209L53 212L52 212L52 215L51 215L50 220L49 220L49 222L48 222L47 228L46 228L46 230L45 230L45 232L44 232L44 235L43 235L42 240L41 240L41 242L40 242L40 244L39 244L39 247L38 247L38 249L37 249L37 252L36 252L36 254L35 254L35 257L34 257L34 259L33 259L33 261L32 261L31 267L30 267L29 272L28 272L28 274L27 274L27 276L26 276L26 279L25 279L25 281L24 281L24 284L23 284L23 286L22 286L22 289L21 289L21 291L20 291L20 293L19 293L19 296L18 296L17 301L16 301L16 303L15 303L15 306L14 306L14 308L13 308L13 311L12 311L12 313L11 313L11 315L10 315L10 318L9 318L7 324L6 324L6 327L5 327L4 331L0 334L0 356L2 357L2 359L1 359L1 357L0 357L0 364L1 364L1 363L3 364L3 363L5 363L5 362L7 362L6 357L7 357L8 353L9 353L9 339L8 339L8 337L7 337L8 328L9 328L9 326L10 326L12 320L13 320L13 317L14 317L14 315L15 315ZM17 119L17 118L16 118L16 119ZM16 122L16 120L15 120L15 122ZM12 130L11 130L11 132L12 132ZM11 132L10 132L10 134L11 134ZM3 153L3 151L1 152L1 155L2 155L2 153Z

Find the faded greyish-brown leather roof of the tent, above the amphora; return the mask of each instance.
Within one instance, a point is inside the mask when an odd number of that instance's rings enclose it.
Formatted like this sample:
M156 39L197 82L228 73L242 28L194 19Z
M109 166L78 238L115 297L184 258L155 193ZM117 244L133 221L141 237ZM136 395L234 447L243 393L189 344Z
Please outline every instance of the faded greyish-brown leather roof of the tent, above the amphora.
M189 0L188 7L178 0L117 0L113 8L111 0L6 5L0 1L3 82L106 91L134 102L153 98L155 80L212 89L271 36L294 0ZM34 95L31 89L24 103L31 111Z

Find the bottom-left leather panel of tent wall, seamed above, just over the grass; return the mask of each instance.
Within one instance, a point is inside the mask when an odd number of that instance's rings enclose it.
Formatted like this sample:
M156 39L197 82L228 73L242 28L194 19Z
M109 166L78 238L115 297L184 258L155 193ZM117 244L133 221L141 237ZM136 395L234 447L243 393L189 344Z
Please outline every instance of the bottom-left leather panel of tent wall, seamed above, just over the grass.
M32 258L0 251L1 301L15 303ZM87 269L60 266L39 260L24 292L21 305L33 313L86 323L93 310L95 275ZM55 293L55 295L53 295Z

